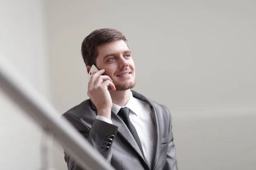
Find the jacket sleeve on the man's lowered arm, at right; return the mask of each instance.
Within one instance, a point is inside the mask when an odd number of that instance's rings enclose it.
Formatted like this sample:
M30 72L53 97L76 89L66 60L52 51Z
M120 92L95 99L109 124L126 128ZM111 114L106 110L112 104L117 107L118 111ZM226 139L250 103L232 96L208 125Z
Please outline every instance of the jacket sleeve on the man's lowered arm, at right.
M171 114L167 108L166 108L166 110L169 113L170 122L169 122L169 140L168 140L168 148L167 148L166 165L163 170L178 170L175 144L173 142L173 135L172 135Z

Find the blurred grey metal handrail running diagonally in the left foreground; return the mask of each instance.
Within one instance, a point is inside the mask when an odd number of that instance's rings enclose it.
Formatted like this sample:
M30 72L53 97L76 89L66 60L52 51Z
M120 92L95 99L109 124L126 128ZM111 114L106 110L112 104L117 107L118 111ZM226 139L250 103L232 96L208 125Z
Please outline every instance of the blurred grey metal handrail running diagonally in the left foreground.
M84 170L114 170L66 119L0 56L0 87L43 130L52 133Z

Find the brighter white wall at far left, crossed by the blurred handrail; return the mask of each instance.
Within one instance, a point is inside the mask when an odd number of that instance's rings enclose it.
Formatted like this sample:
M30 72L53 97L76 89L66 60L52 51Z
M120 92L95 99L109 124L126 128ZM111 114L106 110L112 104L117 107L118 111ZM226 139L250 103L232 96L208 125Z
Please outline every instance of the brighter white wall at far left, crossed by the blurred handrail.
M0 57L49 99L42 0L0 0ZM0 90L0 169L39 170L41 130Z

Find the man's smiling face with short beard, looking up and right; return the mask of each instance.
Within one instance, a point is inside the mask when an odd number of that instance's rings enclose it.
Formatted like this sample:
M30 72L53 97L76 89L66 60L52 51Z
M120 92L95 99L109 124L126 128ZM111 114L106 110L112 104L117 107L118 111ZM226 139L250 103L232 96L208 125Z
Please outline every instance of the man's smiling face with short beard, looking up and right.
M108 42L98 47L96 66L105 69L104 75L113 80L116 90L123 91L135 86L135 66L131 51L123 40Z

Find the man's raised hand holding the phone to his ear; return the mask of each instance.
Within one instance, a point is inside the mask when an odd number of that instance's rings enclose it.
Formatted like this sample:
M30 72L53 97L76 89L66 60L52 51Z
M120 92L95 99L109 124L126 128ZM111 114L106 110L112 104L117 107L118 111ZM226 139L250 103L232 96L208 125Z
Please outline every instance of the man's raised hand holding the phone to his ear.
M87 95L96 106L97 115L111 119L111 108L113 103L108 87L113 91L115 91L116 88L110 77L102 75L104 72L105 69L99 70L96 73L93 73L90 77Z

